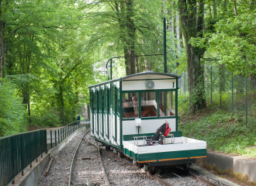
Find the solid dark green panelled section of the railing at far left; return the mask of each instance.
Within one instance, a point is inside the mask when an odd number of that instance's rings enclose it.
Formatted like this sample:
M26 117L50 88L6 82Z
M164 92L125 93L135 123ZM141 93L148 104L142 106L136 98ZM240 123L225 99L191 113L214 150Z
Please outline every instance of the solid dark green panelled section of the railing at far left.
M0 185L7 185L47 150L47 130L0 138Z

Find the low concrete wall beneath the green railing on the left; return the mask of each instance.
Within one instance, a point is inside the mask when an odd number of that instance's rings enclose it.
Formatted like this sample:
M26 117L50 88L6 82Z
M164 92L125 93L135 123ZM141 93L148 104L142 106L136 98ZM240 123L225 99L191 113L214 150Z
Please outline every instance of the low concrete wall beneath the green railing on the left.
M53 149L50 149L47 153L47 156L43 157L43 159L40 160L40 162L36 164L35 167L33 167L33 169L29 170L29 173L23 176L22 179L20 179L19 183L18 183L18 180L16 181L16 185L21 185L21 186L37 185L38 182L40 181L40 177L42 176L44 168L47 166L50 160L50 157L59 153L62 150L62 148L74 138L74 136L77 136L83 130L85 130L85 126L81 127L80 129L77 129L74 133L68 136L59 145L55 146Z

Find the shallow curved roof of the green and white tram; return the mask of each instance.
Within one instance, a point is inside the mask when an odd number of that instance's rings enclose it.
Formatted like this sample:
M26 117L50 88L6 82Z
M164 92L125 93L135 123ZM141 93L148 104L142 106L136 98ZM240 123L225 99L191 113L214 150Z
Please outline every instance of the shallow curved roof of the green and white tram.
M154 71L144 71L137 74L131 74L125 77L119 77L116 79L112 79L109 81L104 81L99 84L93 84L92 86L89 86L88 88L98 87L102 84L108 84L115 81L130 81L130 80L150 80L150 79L177 79L180 76L175 74L168 74L168 73L161 73L161 72L154 72Z

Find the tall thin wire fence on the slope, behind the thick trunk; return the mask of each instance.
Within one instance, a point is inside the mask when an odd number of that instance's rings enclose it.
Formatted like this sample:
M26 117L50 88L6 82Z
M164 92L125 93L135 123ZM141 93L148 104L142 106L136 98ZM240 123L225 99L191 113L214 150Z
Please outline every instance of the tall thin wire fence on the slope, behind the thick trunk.
M256 126L256 81L228 71L222 65L206 66L204 71L207 104L233 112L244 125ZM188 76L181 74L180 95L188 95Z

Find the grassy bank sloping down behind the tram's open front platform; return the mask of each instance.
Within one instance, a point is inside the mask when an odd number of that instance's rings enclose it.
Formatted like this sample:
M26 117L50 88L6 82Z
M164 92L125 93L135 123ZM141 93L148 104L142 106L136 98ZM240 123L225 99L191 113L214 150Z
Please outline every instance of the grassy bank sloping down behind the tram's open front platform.
M178 129L182 130L183 136L206 141L209 150L256 157L254 122L248 122L245 126L240 115L226 112L210 104L195 115L189 115L189 106L184 100L184 97L179 98L182 102L178 105Z

